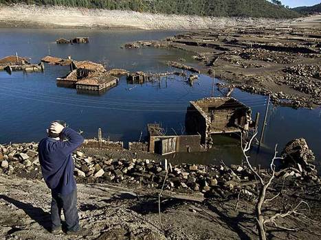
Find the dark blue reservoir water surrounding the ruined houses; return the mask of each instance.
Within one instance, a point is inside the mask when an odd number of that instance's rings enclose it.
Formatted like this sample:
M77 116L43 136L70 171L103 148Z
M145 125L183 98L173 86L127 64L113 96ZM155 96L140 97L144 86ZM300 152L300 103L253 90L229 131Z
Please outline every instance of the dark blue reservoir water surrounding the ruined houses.
M121 49L124 43L134 40L152 40L173 36L177 32L115 31L87 29L0 29L0 58L14 55L31 58L38 63L44 56L100 62L108 69L129 71L176 71L166 66L166 60L186 59L186 64L197 66L190 54L178 49ZM83 45L57 45L57 38L89 36L90 43ZM193 86L180 77L167 82L142 85L127 84L122 77L115 88L101 95L80 94L76 89L56 86L56 77L63 77L69 67L45 64L43 73L0 71L0 143L39 141L45 136L50 121L63 119L71 128L82 130L85 137L97 135L113 141L137 141L146 136L147 123L161 123L168 134L184 130L186 108L189 101L209 97L212 79L201 75ZM217 80L219 81L219 80ZM214 95L220 96L217 91ZM232 93L252 107L253 115L265 112L265 96L251 95L236 90ZM254 116L253 116L254 117ZM295 110L288 107L270 108L264 146L259 154L252 151L252 160L266 164L274 145L283 149L291 139L304 137L317 159L321 157L321 109ZM181 154L173 161L184 159L192 163L240 163L238 141L217 136L216 147L210 153ZM320 166L320 161L318 161Z

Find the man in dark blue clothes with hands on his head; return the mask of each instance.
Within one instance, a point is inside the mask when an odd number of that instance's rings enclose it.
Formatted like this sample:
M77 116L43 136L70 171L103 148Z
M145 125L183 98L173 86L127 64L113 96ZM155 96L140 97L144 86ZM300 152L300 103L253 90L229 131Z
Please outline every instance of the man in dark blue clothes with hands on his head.
M72 235L77 234L80 228L74 178L75 166L71 153L83 143L84 139L78 132L66 126L64 121L53 121L47 130L48 136L38 145L38 152L43 179L47 187L52 190L52 233L61 230L60 215L63 210L67 235Z

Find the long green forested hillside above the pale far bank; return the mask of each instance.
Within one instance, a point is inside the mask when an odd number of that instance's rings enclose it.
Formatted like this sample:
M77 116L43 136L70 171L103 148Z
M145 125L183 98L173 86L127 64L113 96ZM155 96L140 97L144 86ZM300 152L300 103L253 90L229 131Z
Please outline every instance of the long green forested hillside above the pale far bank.
M0 0L0 3L65 5L70 7L133 10L199 16L294 18L299 14L265 0Z

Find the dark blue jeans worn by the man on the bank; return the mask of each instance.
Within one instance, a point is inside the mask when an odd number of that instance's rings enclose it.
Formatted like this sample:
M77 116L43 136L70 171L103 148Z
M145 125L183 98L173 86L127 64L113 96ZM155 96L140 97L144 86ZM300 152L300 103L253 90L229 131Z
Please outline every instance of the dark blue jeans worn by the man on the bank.
M79 230L79 217L77 210L77 189L68 195L61 195L52 192L52 229L61 227L61 210L65 215L67 231Z

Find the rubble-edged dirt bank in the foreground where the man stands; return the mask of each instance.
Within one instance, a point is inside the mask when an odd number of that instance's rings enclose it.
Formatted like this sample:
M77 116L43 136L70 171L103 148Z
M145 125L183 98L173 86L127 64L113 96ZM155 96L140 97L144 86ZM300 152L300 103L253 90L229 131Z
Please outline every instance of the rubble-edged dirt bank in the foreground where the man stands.
M36 147L0 145L0 239L53 239L48 232L51 196L41 179ZM277 226L267 224L269 239L319 239L321 178L308 172L307 165L314 162L313 153L304 139L297 139L283 154L285 161L287 156L297 160L279 171L267 191L266 199L273 201L265 202L263 214L286 213L302 201L309 208L300 206L294 215L276 217ZM109 158L100 149L82 148L74 159L80 224L86 231L78 237L61 231L55 239L257 238L259 185L245 166L175 165L164 175L164 166L153 160ZM269 172L261 169L261 176L267 178Z

